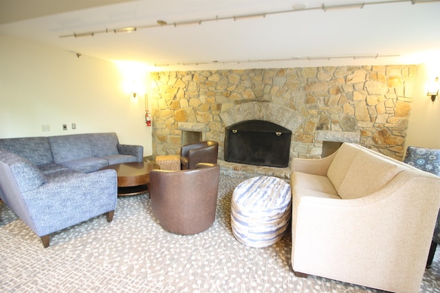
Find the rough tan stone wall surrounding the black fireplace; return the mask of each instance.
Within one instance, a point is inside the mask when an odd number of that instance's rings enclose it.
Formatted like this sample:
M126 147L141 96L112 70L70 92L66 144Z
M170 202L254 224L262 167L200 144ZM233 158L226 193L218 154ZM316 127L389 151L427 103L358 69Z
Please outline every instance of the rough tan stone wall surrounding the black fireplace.
M151 73L153 156L178 154L182 131L219 142L225 126L265 119L292 130L290 156L323 141L360 143L402 159L417 67L304 67Z

